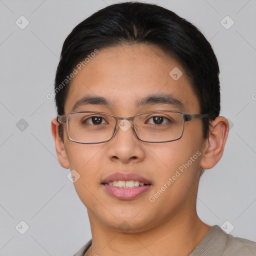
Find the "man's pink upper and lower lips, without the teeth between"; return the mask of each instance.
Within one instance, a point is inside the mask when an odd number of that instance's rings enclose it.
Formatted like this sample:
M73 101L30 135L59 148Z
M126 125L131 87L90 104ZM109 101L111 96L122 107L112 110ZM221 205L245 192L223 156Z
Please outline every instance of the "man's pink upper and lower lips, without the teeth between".
M138 180L139 182L143 182L144 186L136 186L132 188L120 188L117 186L111 186L107 183L113 180ZM148 191L151 188L151 182L146 179L145 177L137 174L137 173L122 173L122 172L115 172L107 177L104 178L104 180L101 183L103 187L105 188L106 192L108 192L110 195L117 199L121 200L131 200L134 199L146 191Z

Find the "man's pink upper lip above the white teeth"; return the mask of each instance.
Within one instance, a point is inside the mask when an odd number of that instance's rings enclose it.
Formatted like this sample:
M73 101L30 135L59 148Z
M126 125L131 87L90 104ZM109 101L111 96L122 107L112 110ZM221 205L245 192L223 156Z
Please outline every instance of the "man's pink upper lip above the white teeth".
M106 184L113 180L124 180L124 181L138 180L139 182L143 182L144 184L151 184L151 182L148 179L146 179L145 177L137 173L123 173L123 172L115 172L108 175L103 179L102 184ZM128 188L125 188L125 189L128 189Z

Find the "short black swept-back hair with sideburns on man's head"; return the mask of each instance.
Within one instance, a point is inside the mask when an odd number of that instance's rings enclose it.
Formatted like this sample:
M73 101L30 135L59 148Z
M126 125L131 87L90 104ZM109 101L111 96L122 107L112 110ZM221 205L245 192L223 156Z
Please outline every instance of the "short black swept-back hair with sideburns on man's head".
M215 119L220 111L216 56L210 43L194 25L156 4L112 4L73 28L63 43L56 70L54 91L57 114L64 114L70 82L66 80L63 85L63 81L74 67L95 49L127 43L158 46L180 62L198 97L200 112L209 115L202 118L203 137L207 138L210 120ZM59 127L61 131L62 125Z

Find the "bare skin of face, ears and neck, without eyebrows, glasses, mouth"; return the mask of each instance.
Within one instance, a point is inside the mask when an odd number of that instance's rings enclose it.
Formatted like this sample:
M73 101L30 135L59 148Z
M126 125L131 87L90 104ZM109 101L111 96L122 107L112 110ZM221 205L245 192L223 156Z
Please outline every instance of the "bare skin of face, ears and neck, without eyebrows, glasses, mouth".
M178 67L183 75L174 80L169 72ZM156 46L119 45L100 49L71 81L65 114L82 96L111 99L111 107L84 105L116 116L133 116L154 110L180 110L166 104L135 107L134 100L149 94L169 93L185 106L186 113L200 113L199 102L185 71L177 60ZM180 139L166 143L140 141L132 128L118 129L108 142L79 144L58 136L56 118L51 122L59 163L75 169L80 178L76 192L87 208L92 246L85 255L189 255L211 226L196 213L200 167L209 169L221 158L228 133L227 120L212 121L209 136L202 136L202 120L185 123ZM64 127L64 126L63 126ZM65 127L64 127L65 129ZM201 155L157 198L159 190L180 165L197 151ZM105 192L104 177L114 172L135 172L151 181L151 188L132 200L119 200ZM123 222L125 221L125 222ZM127 226L127 232L118 227Z

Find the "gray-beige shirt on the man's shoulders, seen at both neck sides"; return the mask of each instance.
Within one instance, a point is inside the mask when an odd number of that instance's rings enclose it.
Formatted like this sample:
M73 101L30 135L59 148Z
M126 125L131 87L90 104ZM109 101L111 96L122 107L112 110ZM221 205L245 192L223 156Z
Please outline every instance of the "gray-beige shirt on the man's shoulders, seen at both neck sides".
M73 256L84 256L90 247L90 239ZM256 256L256 242L234 237L214 225L188 256Z

